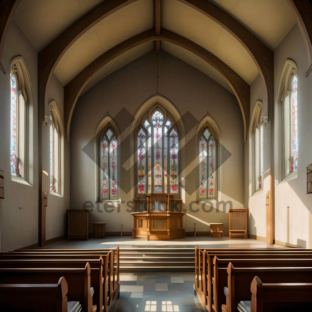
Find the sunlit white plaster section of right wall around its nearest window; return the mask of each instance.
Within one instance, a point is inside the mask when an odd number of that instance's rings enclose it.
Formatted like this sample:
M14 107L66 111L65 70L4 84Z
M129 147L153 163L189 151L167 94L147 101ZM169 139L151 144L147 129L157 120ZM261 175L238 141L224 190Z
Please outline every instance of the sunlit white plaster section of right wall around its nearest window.
M281 107L279 82L286 59L298 66L298 173L291 180L281 181ZM312 74L307 69L304 41L295 25L274 52L275 109L275 240L312 248L312 194L307 194L306 167L312 162ZM310 64L309 64L310 65ZM289 208L287 208L289 207Z

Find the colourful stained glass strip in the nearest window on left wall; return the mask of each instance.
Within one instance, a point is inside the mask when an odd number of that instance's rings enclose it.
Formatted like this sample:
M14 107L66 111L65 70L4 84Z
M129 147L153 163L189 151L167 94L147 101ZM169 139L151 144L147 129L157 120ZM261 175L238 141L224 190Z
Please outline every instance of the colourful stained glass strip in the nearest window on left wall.
M17 158L17 85L14 67L11 69L11 174L21 176Z

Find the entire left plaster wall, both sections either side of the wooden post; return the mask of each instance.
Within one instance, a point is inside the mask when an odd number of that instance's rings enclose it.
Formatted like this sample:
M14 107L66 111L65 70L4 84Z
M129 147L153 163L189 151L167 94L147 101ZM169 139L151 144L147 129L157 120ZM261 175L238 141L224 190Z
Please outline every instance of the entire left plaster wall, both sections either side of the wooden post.
M11 180L10 174L10 63L22 56L32 85L33 120L30 136L32 181L24 185ZM4 171L5 199L0 199L1 251L13 250L38 242L38 116L37 116L37 52L14 23L11 24L4 45L2 65L6 75L0 72L0 169ZM63 119L63 86L52 76L47 90L47 103L55 100ZM46 114L49 115L46 103ZM64 120L63 120L64 124ZM42 125L42 168L50 173L49 128ZM69 207L69 143L64 143L64 197L50 195L46 209L46 239L65 234L66 209ZM23 209L19 209L23 207Z

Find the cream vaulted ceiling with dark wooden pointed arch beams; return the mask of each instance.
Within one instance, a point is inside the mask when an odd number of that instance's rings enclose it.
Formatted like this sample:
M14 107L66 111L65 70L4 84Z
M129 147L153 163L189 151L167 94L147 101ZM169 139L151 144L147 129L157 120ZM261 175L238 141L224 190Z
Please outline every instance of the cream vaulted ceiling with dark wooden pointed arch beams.
M117 51L118 48L113 49L129 38L153 29L154 1L22 0L13 20L32 46L40 51L39 102L45 102L46 85L53 72L71 95L71 82L76 81L90 64L97 64L96 59L105 53L107 55L109 51ZM230 76L235 77L236 82L240 81L236 83L238 89L234 88L234 93L236 97L237 92L244 94L245 102L248 102L246 96L249 97L248 85L260 72L266 82L270 103L273 100L271 49L280 43L295 24L294 15L286 0L273 2L274 4L271 0L254 0L251 5L250 0L161 0L160 26L163 27L163 32L167 31L167 34L173 34L173 38L182 38L182 41L188 42L185 46L179 42L180 39L172 40L167 36L163 40L169 44L164 44L164 49L181 58L181 48L192 52L195 59L196 56L210 53L210 59L225 64L221 66L223 68L218 67L219 72L227 68L225 76L231 72ZM130 45L126 50L121 49L122 52L119 49L118 60L115 58L117 55L108 58L109 61L114 59L115 65L106 70L106 74L136 58L135 52L139 56L144 49L148 50L151 46L148 46L147 42L151 40ZM140 44L144 44L145 47L139 49ZM190 45L196 46L197 50L189 49ZM128 51L131 48L136 48L132 54ZM121 57L122 53L128 53L128 56ZM184 53L184 60L190 64L198 64L198 60L194 60L191 55L186 57ZM214 61L209 61L207 57L205 61L216 68ZM107 63L106 61L106 66ZM98 69L91 70L92 75L96 75ZM208 69L206 71L208 72ZM213 73L210 76L218 79ZM224 73L222 76L224 78ZM99 77L100 75L98 79ZM88 87L92 84L90 78L86 77ZM225 80L228 82L227 78ZM86 86L86 83L83 85ZM233 85L231 88L233 90ZM79 90L78 96L81 91ZM65 99L66 96L68 95L65 94ZM239 103L241 100L238 98ZM243 115L243 119L245 118L249 119L249 111L247 115Z

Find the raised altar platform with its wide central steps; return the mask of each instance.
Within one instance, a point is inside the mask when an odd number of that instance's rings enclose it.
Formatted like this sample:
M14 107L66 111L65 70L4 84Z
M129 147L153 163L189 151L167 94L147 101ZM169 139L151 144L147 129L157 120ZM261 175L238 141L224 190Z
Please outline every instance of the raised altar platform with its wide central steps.
M195 245L207 248L285 248L251 238L186 237L174 241L146 241L131 236L90 238L88 241L59 241L44 248L101 249L119 246L120 271L194 272Z

